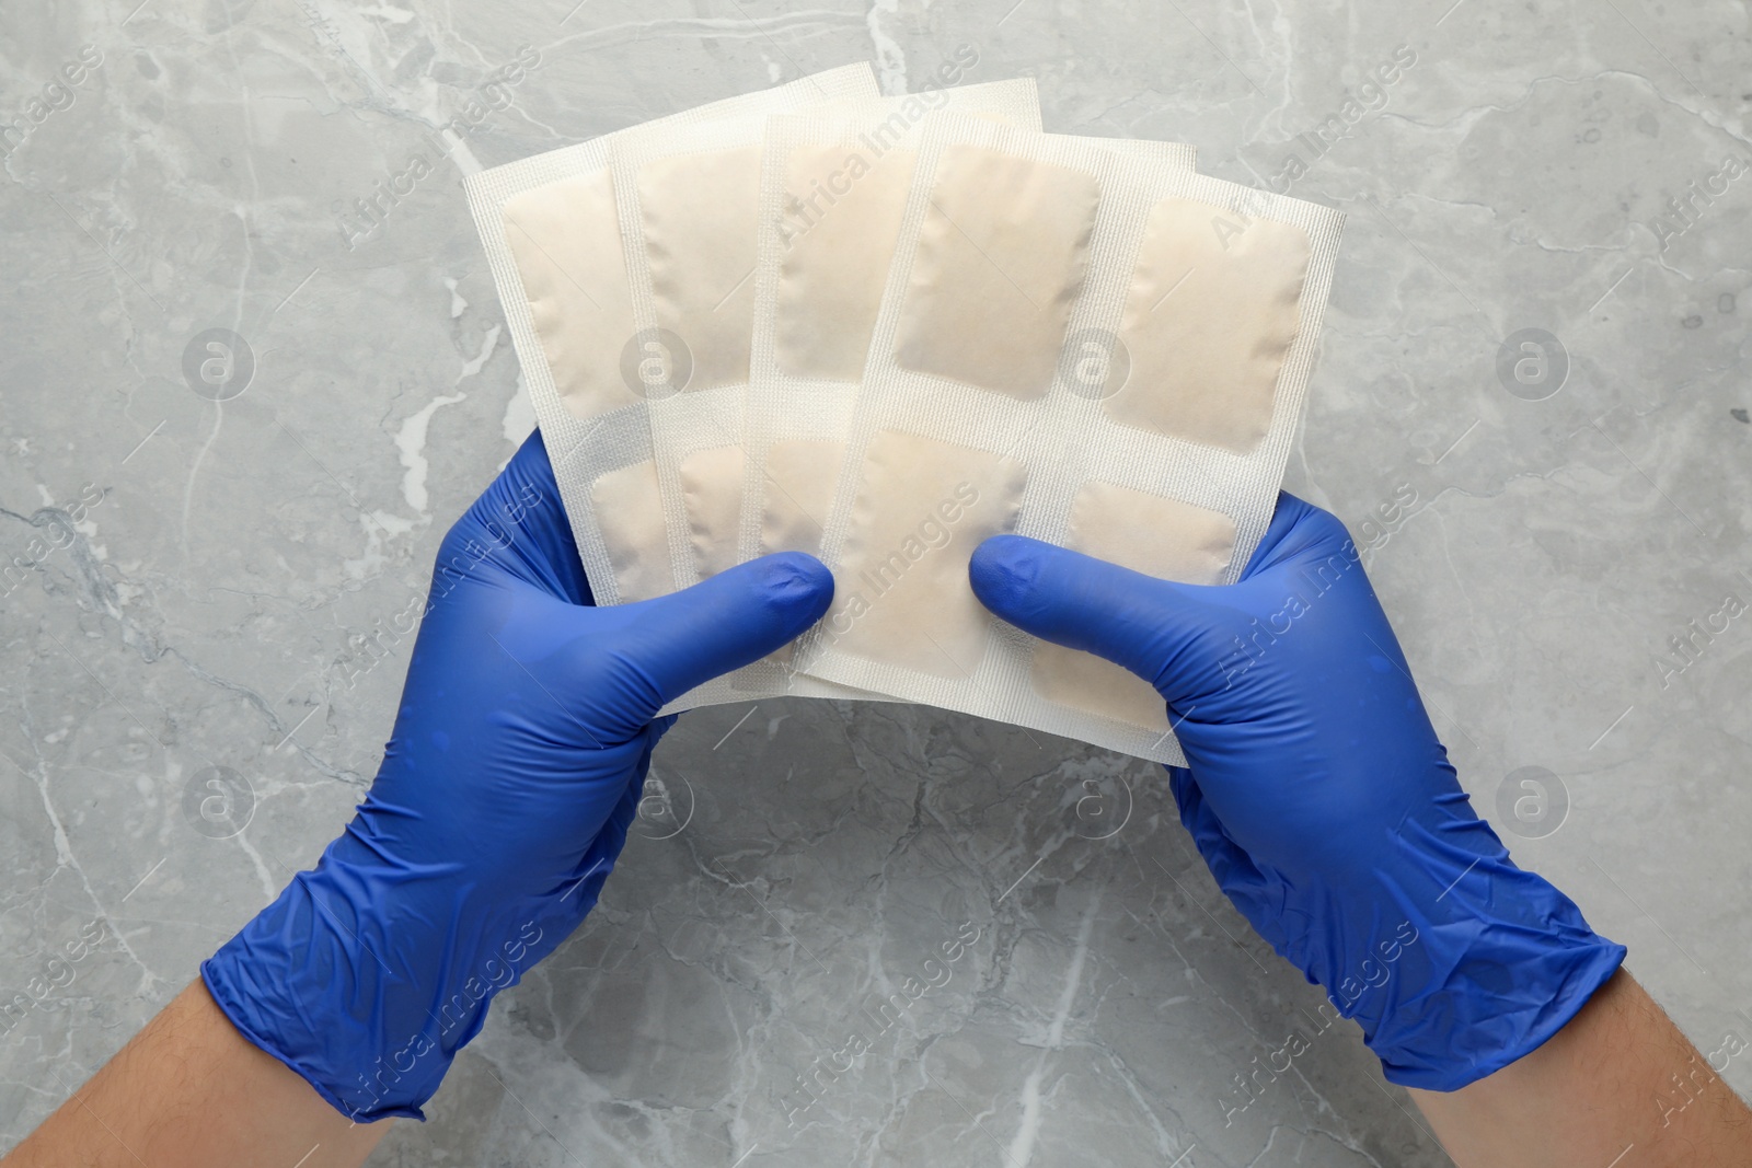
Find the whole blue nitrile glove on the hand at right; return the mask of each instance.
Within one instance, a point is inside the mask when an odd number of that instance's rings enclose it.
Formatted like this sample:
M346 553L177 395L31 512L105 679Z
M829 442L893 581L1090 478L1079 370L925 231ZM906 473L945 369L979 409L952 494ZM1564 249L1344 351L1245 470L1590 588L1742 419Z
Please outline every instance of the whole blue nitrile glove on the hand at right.
M1141 674L1190 770L1181 821L1218 886L1323 986L1393 1082L1452 1091L1563 1028L1624 960L1508 860L1437 741L1344 525L1279 496L1230 587L995 536L974 594Z

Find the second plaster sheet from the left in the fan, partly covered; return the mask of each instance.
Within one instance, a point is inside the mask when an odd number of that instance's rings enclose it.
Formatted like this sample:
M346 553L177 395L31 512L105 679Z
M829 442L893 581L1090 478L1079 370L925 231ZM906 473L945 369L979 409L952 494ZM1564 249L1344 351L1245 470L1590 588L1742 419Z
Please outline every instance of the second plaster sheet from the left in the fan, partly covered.
M887 119L894 133L904 133L936 109L1034 130L1041 124L1032 79L820 103L808 112L871 124ZM634 327L661 338L689 369L687 382L675 392L646 398L669 538L666 560L676 588L743 559L738 555L746 471L743 396L753 338L766 123L752 116L704 126L650 126L618 137L611 149ZM883 177L890 187L899 182L899 193L887 191L899 229L908 172L890 166ZM874 298L887 280L892 243L894 233L881 245ZM865 252L865 261L872 263L874 254ZM865 336L876 317L874 298ZM785 646L764 662L706 683L673 709L776 693L869 697L813 678L794 678L788 660Z

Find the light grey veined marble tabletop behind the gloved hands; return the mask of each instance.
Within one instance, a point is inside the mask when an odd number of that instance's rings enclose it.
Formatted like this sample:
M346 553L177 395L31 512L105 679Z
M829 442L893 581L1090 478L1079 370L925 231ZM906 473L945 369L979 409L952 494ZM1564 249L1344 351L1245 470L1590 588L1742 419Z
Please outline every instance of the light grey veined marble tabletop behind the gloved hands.
M0 9L0 1145L370 781L378 634L531 427L463 175L962 46L1049 130L1349 214L1288 485L1368 548L1515 858L1705 1051L1752 1037L1743 4L88 0ZM215 327L254 361L223 403L184 371ZM648 790L373 1164L1447 1163L1151 765L778 700L683 718Z

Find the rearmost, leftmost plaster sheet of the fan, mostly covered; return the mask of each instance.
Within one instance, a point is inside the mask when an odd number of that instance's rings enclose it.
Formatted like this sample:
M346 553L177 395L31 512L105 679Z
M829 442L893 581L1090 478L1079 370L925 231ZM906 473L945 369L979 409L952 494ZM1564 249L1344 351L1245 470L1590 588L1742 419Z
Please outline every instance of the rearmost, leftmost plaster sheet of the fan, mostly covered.
M701 124L872 98L869 65L713 102L659 124ZM620 131L625 133L625 131ZM464 180L578 555L597 604L671 592L645 394L662 354L634 336L606 135ZM638 392L634 392L638 387Z

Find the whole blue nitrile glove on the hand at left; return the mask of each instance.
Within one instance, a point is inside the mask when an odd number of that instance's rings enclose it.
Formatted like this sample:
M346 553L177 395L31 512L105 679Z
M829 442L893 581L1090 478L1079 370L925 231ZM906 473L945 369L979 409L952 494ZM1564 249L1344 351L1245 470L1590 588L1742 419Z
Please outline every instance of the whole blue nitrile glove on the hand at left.
M769 555L592 608L540 436L438 552L370 795L201 965L258 1047L357 1121L420 1117L492 995L596 904L673 718L664 702L811 625L832 578Z

